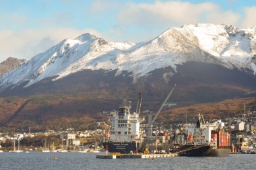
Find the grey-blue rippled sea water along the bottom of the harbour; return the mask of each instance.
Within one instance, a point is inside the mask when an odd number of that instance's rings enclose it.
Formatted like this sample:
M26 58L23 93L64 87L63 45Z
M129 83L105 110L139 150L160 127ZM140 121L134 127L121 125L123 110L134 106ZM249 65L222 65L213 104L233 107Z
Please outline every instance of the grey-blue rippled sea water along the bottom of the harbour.
M96 159L97 154L0 153L0 169L256 169L256 155L249 154L229 157Z

